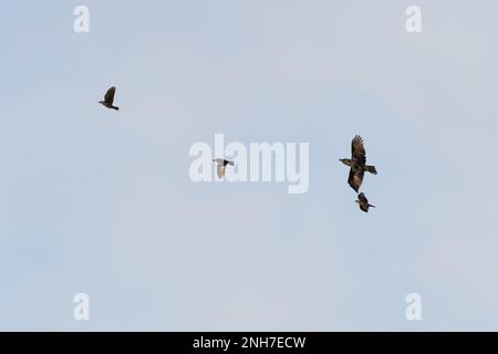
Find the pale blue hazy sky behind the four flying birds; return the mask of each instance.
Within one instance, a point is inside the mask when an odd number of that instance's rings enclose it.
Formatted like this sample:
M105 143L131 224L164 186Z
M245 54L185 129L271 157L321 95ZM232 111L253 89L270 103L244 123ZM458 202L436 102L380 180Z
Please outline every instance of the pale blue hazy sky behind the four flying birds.
M73 30L80 4L89 33ZM498 330L497 11L3 4L0 330ZM120 112L98 104L113 85ZM193 183L189 148L217 133L309 143L308 192ZM378 170L369 214L339 162L356 134Z

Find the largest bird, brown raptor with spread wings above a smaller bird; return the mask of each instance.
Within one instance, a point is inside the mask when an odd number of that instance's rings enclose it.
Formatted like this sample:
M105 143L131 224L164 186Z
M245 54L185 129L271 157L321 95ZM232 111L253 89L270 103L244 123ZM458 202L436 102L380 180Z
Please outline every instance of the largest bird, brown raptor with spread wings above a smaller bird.
M363 138L360 135L354 136L351 142L351 158L341 158L339 160L351 167L347 184L356 192L363 183L365 170L373 175L377 174L375 166L366 165L365 146L363 145Z

